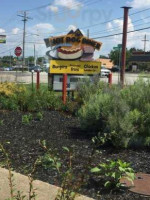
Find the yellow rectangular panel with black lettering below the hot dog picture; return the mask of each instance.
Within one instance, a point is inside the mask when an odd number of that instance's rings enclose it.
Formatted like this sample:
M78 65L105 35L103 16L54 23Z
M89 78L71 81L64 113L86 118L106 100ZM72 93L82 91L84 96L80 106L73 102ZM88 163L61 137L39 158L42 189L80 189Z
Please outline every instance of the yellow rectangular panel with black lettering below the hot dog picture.
M101 63L95 61L63 61L51 60L51 74L98 74L100 73Z

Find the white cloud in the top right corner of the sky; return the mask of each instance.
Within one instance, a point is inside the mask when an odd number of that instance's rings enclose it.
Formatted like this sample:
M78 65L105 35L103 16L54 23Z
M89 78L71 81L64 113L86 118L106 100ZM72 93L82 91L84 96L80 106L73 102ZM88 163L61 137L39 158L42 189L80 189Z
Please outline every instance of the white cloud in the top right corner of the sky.
M127 4L135 9L147 8L150 7L150 0L132 0L127 1Z

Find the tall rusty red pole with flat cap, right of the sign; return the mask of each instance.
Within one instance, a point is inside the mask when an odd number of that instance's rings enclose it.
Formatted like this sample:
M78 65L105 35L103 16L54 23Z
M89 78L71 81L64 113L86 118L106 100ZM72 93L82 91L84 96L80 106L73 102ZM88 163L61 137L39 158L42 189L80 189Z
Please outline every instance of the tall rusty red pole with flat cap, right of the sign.
M128 31L128 14L131 7L122 7L124 9L123 22L123 37L122 37L122 66L120 71L120 83L124 87L125 68L126 68L126 46L127 46L127 31Z

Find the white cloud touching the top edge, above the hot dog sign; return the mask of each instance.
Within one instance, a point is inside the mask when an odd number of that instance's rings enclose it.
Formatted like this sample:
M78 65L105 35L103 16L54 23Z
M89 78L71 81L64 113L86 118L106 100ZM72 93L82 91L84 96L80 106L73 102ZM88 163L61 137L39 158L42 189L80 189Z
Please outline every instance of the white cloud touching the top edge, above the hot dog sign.
M83 6L83 4L77 0L55 0L54 5L63 6L70 10L78 10Z

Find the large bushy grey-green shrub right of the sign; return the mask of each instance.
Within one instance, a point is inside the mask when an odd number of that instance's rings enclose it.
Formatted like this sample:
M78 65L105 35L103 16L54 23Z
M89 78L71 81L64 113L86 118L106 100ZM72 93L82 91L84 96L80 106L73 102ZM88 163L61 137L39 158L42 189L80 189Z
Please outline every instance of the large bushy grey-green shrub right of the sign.
M120 89L99 85L78 112L81 127L117 147L149 146L150 82ZM96 141L96 138L94 139Z

